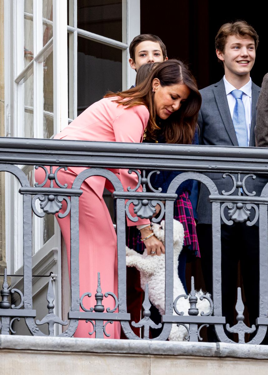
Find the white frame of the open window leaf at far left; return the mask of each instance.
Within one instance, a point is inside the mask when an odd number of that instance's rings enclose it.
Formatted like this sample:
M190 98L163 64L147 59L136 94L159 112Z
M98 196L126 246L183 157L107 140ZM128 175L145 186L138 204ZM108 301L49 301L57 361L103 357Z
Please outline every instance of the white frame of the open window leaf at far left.
M4 62L5 62L5 129L6 136L24 136L21 122L24 119L24 85L22 84L33 72L34 74L34 138L43 138L43 61L53 53L54 113L46 113L54 117L54 134L58 133L62 124L68 123L67 97L67 2L53 0L53 39L43 47L42 1L33 1L34 18L34 59L24 68L24 1L4 0ZM31 17L29 15L29 17ZM50 22L46 20L46 22ZM60 40L60 42L59 42ZM53 51L53 52L52 52ZM66 94L66 95L65 95ZM31 110L31 108L29 108ZM46 112L46 111L45 111ZM56 115L54 115L56 114ZM22 122L23 123L23 122ZM19 166L21 167L21 166ZM27 169L27 167L26 167ZM22 275L22 233L19 233L19 212L22 207L18 203L18 181L6 173L6 258L7 272ZM36 215L33 216L37 221ZM33 271L38 275L47 275L51 269L57 273L55 290L55 314L61 316L61 234L55 220L54 236L43 245L42 220L35 225L35 249L33 255ZM55 272L56 271L56 272ZM33 279L33 294L46 286L47 278ZM22 280L12 278L12 285L20 285ZM43 286L42 286L43 285ZM61 326L55 325L55 333Z

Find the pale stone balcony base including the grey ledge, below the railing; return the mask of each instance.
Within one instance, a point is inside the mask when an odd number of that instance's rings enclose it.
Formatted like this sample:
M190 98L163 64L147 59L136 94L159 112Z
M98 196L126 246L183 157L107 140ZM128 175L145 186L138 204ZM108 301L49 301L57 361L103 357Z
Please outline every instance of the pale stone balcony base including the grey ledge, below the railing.
M0 335L5 375L266 375L266 345Z

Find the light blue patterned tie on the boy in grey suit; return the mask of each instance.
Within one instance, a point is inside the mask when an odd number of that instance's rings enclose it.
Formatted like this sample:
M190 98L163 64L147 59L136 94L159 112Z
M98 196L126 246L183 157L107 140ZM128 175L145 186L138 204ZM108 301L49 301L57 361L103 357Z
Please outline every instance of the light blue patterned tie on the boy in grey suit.
M247 139L246 113L244 103L242 101L243 91L233 90L231 94L235 98L233 124L235 128L237 142L240 147L248 147L249 144Z

